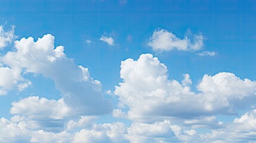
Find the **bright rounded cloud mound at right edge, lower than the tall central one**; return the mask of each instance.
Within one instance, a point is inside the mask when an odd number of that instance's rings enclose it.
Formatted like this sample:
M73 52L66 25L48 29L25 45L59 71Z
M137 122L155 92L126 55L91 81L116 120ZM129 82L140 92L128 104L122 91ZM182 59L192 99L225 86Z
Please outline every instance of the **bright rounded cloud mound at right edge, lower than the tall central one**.
M254 95L256 82L249 79L240 79L233 73L218 73L214 76L205 74L197 86L205 94L221 94L223 98L242 99Z

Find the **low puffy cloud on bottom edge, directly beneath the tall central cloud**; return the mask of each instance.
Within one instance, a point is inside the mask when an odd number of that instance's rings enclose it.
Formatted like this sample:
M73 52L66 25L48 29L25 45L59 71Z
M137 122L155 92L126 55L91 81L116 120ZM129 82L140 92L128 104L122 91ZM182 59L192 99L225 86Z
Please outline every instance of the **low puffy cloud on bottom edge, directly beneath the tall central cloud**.
M184 142L196 135L196 130L184 130L170 120L150 124L132 123L127 131L130 142Z

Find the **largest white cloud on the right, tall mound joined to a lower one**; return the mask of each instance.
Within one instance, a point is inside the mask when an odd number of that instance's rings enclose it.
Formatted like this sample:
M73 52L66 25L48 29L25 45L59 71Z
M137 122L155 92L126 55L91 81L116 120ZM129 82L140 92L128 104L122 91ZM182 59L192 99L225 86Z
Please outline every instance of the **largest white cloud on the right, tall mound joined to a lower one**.
M185 74L183 85L169 80L167 67L151 54L142 54L137 61L121 63L123 82L115 88L120 107L129 108L128 118L139 122L168 117L199 117L213 114L235 114L236 102L254 97L256 82L239 79L232 73L203 76L196 94L188 86ZM186 83L186 84L185 84ZM177 110L179 109L179 110Z

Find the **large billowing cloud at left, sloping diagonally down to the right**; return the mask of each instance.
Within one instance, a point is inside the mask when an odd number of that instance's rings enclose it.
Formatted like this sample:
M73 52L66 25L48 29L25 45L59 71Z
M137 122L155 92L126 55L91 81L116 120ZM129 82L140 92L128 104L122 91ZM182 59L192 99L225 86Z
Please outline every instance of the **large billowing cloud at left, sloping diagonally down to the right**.
M10 85L0 83L1 92L17 85L17 81L26 81L20 75L26 73L42 74L54 80L55 86L63 95L64 102L72 108L73 114L103 114L110 113L111 103L103 98L101 83L92 79L87 68L76 66L72 59L64 54L64 47L54 48L54 36L48 34L34 42L33 38L22 38L15 41L14 51L1 57L4 65L8 66ZM2 67L4 69L4 67ZM0 72L4 72L0 70ZM0 78L5 78L0 76ZM9 79L6 79L9 80ZM26 88L29 84L18 86Z

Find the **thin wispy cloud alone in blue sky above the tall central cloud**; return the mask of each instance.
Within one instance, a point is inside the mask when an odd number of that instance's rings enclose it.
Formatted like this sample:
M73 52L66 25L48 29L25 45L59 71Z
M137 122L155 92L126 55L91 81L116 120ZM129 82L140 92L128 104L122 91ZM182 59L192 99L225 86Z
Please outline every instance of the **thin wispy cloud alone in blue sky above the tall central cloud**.
M190 40L190 30L184 36L184 39L177 38L172 32L164 29L158 29L153 32L152 37L147 45L153 48L153 51L171 51L177 49L179 51L197 51L203 47L203 36L201 34L194 35L194 42Z

